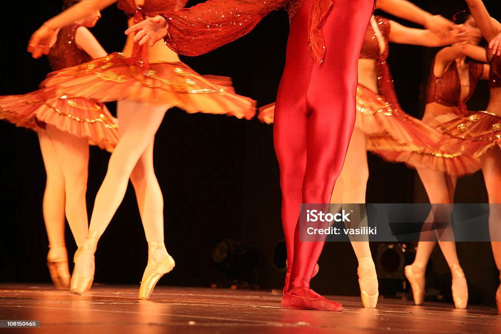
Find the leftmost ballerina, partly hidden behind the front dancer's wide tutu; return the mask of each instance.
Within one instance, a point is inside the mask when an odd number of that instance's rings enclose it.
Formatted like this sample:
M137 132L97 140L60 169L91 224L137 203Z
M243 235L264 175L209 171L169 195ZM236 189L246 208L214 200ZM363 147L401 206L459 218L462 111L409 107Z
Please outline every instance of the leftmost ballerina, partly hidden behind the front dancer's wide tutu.
M79 0L65 0L63 9ZM87 29L100 19L99 11L57 31L48 55L52 70L82 64L106 52ZM118 141L117 126L104 104L51 89L0 97L0 119L37 132L47 174L43 214L49 239L47 265L60 289L70 287L70 271L65 244L65 216L81 246L88 232L85 193L89 143L112 151Z

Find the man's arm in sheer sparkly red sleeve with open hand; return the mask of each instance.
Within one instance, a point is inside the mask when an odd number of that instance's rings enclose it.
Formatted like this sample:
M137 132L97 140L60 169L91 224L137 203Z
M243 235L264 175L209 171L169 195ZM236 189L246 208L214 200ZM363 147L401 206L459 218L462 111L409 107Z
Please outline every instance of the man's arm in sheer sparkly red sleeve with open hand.
M289 0L208 0L178 12L166 12L127 29L134 41L153 45L162 38L173 51L197 56L247 34L269 13Z

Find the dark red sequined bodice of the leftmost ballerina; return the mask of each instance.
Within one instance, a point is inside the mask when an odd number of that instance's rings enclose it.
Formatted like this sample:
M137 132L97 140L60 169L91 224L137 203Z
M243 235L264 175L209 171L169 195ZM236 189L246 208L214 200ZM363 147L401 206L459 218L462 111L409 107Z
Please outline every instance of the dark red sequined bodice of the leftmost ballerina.
M92 58L75 43L75 34L80 25L61 28L57 41L49 52L49 64L53 71L59 71L65 67L76 66L90 61Z

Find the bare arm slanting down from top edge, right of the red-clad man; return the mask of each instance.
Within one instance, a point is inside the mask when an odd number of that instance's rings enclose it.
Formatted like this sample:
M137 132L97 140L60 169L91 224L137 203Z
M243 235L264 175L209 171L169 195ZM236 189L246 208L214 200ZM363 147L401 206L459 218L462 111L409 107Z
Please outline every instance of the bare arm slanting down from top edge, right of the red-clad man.
M378 0L377 8L398 18L414 22L442 38L454 30L454 24L441 15L432 15L406 0Z

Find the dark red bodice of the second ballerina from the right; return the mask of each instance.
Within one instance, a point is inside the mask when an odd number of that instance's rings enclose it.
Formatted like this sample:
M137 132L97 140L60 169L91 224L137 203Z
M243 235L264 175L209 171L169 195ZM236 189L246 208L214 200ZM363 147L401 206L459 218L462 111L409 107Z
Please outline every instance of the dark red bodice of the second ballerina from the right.
M473 95L483 73L482 64L472 61L467 61L467 64L469 66L469 93L464 101L460 101L461 81L457 73L456 62L452 62L447 71L440 78L437 78L433 73L435 67L435 61L433 60L426 87L426 103L436 102L448 107L458 107L466 103Z

